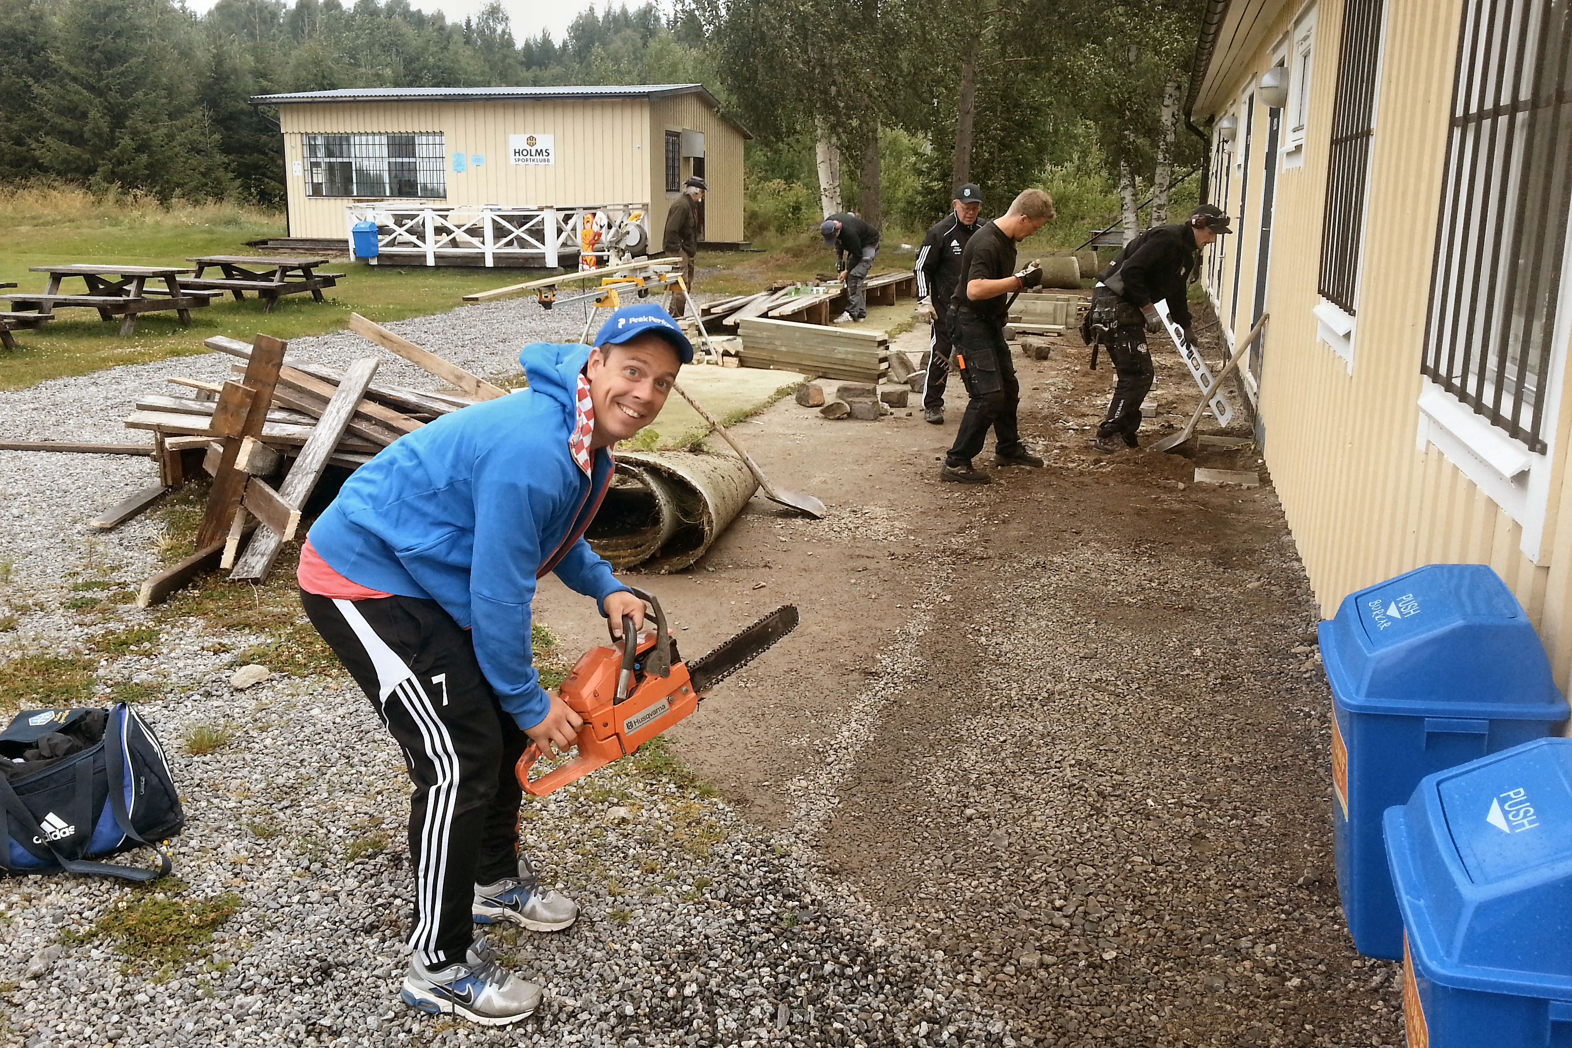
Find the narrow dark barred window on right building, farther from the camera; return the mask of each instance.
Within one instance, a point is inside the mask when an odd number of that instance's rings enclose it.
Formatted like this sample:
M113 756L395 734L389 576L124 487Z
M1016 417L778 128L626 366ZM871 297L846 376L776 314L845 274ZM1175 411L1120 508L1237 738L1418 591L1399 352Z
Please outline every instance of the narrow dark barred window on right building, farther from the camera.
M1364 182L1376 134L1376 77L1387 0L1347 0L1331 108L1331 157L1320 226L1320 297L1353 316L1364 242Z

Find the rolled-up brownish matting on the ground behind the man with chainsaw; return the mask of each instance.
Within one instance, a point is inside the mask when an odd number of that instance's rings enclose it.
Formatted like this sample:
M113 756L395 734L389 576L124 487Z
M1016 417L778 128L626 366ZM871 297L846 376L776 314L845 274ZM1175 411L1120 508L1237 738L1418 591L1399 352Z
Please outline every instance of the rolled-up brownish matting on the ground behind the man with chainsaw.
M590 547L613 567L660 575L704 556L758 482L731 456L621 451L618 479L590 525Z

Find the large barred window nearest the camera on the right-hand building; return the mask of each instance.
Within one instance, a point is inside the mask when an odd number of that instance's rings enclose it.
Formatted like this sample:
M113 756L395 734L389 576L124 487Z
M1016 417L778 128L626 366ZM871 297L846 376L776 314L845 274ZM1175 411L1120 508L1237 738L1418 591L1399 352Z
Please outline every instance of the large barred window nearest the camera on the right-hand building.
M1421 371L1531 451L1572 203L1567 0L1470 0Z

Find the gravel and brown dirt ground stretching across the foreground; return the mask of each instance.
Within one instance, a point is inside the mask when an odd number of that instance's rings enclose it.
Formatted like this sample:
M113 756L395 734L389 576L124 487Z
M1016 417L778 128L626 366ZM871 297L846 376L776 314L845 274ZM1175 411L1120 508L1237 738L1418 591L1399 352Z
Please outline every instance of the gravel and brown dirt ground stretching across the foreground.
M395 328L500 371L509 343L577 335L530 310ZM329 363L366 352L349 335L297 347ZM226 366L184 358L0 396L35 420L14 432L113 440L135 393ZM1075 432L1105 374L1022 366L1045 390L1025 427L1069 431L1044 448L1049 470L943 490L932 464L901 460L910 437L868 426L866 456L913 478L905 504L841 511L830 529L736 525L888 556L915 580L879 654L847 669L833 727L780 743L813 759L762 782L786 798L777 830L651 764L527 801L525 848L583 907L566 933L498 936L549 987L536 1018L484 1029L396 1001L410 878L396 753L341 676L231 690L247 638L190 619L105 657L99 677L163 696L141 709L187 801L174 899L233 916L162 966L93 933L148 889L0 883L0 1045L1398 1043L1398 968L1357 960L1339 927L1316 611L1270 489L1185 492L1182 460L1091 459ZM39 459L0 456L20 509L0 515L0 558L41 605L0 644L79 652L91 628L143 621L127 608L86 627L55 605L86 561L145 573L151 525L99 539L80 520L149 471ZM792 688L747 687L775 701ZM184 753L214 726L228 746Z

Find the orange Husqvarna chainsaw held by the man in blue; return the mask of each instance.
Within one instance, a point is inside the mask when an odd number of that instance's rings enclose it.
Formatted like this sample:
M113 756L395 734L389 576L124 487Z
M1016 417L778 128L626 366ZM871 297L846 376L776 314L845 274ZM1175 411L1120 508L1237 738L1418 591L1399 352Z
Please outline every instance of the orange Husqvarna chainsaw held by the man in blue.
M624 616L624 639L591 647L578 658L560 688L563 701L585 720L574 740L577 753L563 767L531 779L530 768L541 759L541 748L530 743L516 768L525 792L545 797L629 756L696 710L711 688L797 625L797 606L781 605L711 654L685 663L656 595L632 592L654 611L654 628L635 636L632 616Z

